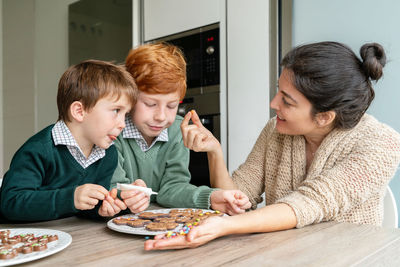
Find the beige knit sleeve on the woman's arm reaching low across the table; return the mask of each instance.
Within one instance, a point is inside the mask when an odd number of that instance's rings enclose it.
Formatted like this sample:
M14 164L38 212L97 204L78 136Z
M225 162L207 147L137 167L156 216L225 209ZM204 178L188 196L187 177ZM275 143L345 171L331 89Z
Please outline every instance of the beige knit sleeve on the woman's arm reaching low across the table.
M400 161L400 138L394 131L380 131L361 136L336 165L307 177L298 190L277 201L292 207L298 228L333 220L385 188Z

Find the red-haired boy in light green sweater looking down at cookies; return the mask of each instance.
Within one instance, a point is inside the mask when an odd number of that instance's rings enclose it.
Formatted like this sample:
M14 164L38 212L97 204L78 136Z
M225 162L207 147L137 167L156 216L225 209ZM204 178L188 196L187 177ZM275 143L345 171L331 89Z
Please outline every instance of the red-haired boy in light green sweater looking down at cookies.
M118 166L111 180L150 187L164 207L216 209L243 213L250 202L239 190L216 190L190 184L189 150L184 146L177 116L186 93L186 62L173 45L146 44L131 50L126 68L139 89L138 100L115 142ZM145 210L150 198L138 190L120 193L131 212Z

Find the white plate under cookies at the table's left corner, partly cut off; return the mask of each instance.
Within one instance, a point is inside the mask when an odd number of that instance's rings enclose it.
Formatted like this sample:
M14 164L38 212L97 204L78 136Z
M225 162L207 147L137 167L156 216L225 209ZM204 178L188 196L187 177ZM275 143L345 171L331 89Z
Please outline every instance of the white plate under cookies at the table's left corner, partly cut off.
M10 236L20 235L20 234L34 234L36 236L40 235L58 235L58 240L47 243L47 249L38 252L32 252L29 254L19 253L16 257L9 260L0 260L0 266L9 266L14 264L20 264L23 262L33 261L40 258L50 256L57 253L64 248L68 247L72 242L72 237L70 234L52 230L52 229L38 229L38 228L9 228L0 229L0 231L10 230Z

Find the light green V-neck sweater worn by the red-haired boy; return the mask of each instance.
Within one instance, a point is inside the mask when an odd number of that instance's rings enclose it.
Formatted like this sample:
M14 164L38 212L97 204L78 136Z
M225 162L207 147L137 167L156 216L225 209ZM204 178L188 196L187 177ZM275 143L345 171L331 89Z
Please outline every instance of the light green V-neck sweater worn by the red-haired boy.
M164 207L209 208L213 189L189 183L189 150L183 145L181 122L182 117L177 116L168 128L168 142L156 142L146 152L140 149L135 139L123 138L121 134L115 141L118 166L111 188L116 187L116 183L142 179L147 187L158 192L151 201Z

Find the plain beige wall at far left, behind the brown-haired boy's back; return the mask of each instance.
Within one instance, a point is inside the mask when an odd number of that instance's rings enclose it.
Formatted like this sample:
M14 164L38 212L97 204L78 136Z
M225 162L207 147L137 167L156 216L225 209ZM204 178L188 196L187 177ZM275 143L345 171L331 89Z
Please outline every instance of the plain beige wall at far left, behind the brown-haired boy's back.
M57 119L57 85L68 66L68 4L3 0L3 172L16 150Z

